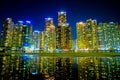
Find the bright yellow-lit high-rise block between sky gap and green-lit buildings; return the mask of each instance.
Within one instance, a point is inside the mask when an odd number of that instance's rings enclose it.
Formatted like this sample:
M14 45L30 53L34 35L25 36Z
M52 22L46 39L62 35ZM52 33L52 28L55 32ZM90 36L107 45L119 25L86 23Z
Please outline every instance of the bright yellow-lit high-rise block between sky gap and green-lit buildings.
M86 23L76 24L77 31L77 50L97 50L97 22L88 19Z

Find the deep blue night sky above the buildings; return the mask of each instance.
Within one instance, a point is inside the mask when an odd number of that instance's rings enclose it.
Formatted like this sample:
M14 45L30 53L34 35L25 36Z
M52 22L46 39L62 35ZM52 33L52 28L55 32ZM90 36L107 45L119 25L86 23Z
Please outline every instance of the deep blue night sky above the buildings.
M119 0L0 0L0 30L3 21L10 17L14 22L30 20L34 30L44 29L44 18L54 18L57 12L67 12L67 22L72 26L75 39L76 22L92 18L98 22L119 22Z

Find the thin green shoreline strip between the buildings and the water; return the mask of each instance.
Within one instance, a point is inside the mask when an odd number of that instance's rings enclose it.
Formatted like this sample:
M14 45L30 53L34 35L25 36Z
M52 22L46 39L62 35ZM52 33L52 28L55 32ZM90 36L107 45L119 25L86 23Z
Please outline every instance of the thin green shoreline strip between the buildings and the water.
M20 53L20 52L0 52L0 56L9 55L37 55L37 56L47 56L47 57L116 57L120 56L118 52L64 52L64 53Z

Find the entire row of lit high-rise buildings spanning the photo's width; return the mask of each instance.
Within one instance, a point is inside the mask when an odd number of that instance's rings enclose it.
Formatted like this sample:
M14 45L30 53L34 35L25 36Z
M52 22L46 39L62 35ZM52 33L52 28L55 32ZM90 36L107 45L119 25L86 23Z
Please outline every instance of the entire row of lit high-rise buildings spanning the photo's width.
M0 47L4 50L40 52L89 52L120 51L120 24L98 23L87 19L76 23L77 38L72 39L72 27L67 21L66 12L58 12L58 25L53 18L45 18L42 31L33 30L31 21L14 23L7 18L2 26Z

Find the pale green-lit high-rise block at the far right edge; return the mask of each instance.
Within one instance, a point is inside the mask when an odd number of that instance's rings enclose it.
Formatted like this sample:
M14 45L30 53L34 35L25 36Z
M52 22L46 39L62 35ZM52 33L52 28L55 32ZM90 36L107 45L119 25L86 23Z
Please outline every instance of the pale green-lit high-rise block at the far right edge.
M99 49L119 50L120 30L117 23L100 23L98 26Z

